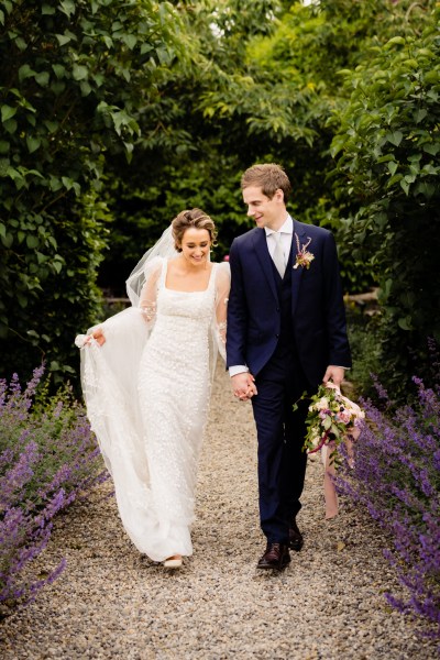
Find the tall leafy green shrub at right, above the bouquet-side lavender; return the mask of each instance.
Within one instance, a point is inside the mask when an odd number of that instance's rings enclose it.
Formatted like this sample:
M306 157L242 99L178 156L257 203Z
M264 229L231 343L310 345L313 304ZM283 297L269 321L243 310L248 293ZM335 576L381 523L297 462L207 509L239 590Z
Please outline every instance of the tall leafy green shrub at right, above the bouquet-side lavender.
M341 254L377 275L377 375L402 403L415 363L428 385L426 338L440 340L440 7L426 6L413 3L408 16L418 21L341 72L351 99L331 148L336 193L352 210Z

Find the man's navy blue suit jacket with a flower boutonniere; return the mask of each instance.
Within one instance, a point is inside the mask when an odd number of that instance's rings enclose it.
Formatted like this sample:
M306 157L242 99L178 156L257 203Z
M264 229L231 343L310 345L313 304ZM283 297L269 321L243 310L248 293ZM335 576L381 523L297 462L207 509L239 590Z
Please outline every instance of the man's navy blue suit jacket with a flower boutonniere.
M311 239L307 250L315 256L308 270L298 266L292 271L293 342L308 384L315 387L328 365L351 366L345 311L332 234L294 220L293 266L295 234L300 246ZM234 239L229 261L227 366L248 365L256 376L271 360L280 331L277 286L264 229Z

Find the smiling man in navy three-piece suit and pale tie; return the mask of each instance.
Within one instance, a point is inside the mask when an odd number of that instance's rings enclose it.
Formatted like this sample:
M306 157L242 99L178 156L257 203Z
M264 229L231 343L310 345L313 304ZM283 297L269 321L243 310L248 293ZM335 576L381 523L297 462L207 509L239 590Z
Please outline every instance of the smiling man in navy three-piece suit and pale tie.
M288 215L290 183L274 164L241 179L256 227L230 250L227 366L234 395L252 399L258 442L258 496L267 539L258 569L280 570L299 551L296 524L307 455L305 389L339 385L351 366L345 312L332 234Z

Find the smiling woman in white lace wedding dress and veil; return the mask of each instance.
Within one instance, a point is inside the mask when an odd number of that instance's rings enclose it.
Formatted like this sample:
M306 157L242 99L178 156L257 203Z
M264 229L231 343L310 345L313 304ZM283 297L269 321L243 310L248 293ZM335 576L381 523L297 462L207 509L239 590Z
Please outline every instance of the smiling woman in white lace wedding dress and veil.
M193 553L197 464L224 359L229 264L212 220L182 211L127 280L132 306L76 338L87 414L135 547L166 568Z

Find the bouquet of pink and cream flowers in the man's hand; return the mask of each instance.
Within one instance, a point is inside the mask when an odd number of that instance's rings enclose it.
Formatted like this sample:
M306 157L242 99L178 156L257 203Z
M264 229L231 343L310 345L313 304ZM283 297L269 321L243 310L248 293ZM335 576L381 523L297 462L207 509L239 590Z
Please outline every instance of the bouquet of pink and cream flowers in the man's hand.
M330 444L331 458L338 462L338 447L348 439L358 438L359 425L364 418L364 411L342 396L339 387L332 383L320 385L309 405L304 449L315 453Z

